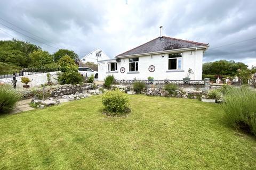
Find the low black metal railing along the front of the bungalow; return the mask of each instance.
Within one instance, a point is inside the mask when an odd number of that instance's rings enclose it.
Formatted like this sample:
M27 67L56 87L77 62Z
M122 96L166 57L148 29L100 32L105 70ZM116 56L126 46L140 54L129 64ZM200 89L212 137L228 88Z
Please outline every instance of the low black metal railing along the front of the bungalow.
M115 80L116 84L132 84L134 82L143 82L145 84L186 84L186 85L204 85L205 80Z

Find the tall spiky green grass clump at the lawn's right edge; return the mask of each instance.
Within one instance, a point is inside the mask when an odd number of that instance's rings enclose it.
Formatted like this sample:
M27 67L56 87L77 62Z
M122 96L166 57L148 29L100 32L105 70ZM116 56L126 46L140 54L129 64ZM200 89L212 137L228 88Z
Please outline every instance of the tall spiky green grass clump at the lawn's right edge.
M222 104L227 122L256 135L256 91L248 87L228 88Z

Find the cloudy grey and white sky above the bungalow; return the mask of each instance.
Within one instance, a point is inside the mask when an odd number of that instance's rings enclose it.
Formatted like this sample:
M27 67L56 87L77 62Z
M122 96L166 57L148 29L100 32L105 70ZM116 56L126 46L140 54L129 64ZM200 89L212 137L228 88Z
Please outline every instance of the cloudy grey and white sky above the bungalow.
M0 39L29 41L53 53L115 55L163 35L209 43L204 62L256 65L256 1L0 1ZM17 26L17 27L15 27ZM231 44L231 45L230 45Z

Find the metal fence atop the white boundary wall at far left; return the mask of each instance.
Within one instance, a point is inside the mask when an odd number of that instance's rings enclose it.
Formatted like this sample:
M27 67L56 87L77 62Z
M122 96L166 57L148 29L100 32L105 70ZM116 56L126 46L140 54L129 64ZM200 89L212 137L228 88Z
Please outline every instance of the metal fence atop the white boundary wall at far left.
M48 73L53 71L59 71L59 68L24 68L20 71L13 71L13 72L3 72L0 74L0 79L4 78L12 78L14 75L15 77L25 76L25 75L33 75L33 74L41 74L41 73Z

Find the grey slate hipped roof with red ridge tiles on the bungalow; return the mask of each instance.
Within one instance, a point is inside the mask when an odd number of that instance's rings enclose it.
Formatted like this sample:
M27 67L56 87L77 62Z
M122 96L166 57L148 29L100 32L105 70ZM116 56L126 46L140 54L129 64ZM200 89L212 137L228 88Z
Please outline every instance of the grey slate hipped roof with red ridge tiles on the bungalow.
M207 45L208 44L163 36L162 38L157 37L151 41L148 41L147 43L135 47L131 50L128 50L127 52L124 52L122 54L119 54L116 57Z

